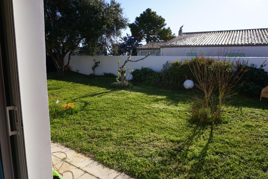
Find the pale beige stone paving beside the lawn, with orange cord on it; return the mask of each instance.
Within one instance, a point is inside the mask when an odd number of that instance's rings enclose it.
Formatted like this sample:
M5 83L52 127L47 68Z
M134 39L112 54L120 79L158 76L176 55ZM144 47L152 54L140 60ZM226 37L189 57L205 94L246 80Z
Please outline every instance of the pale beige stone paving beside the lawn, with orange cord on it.
M71 170L74 173L75 179L134 179L125 175L124 173L117 172L116 170L109 169L102 164L85 157L85 155L77 153L60 143L51 143L51 152L65 152L67 159L60 169L60 172ZM62 164L65 155L63 153L53 153L52 162L59 168ZM64 179L72 179L71 173L63 174Z

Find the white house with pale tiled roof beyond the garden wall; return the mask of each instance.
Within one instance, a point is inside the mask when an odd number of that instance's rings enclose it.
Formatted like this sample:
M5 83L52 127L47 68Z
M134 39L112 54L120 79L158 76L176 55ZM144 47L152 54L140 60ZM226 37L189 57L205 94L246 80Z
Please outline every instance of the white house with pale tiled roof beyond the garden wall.
M268 28L179 32L166 42L150 42L138 47L138 55L161 50L162 56L268 57Z

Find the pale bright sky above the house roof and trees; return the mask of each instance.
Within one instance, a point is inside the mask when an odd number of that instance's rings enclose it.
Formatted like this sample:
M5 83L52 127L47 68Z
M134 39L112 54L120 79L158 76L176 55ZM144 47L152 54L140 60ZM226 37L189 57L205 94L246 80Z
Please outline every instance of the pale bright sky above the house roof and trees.
M147 8L166 19L166 27L183 32L268 28L268 0L116 0L130 23ZM127 28L122 36L130 33Z

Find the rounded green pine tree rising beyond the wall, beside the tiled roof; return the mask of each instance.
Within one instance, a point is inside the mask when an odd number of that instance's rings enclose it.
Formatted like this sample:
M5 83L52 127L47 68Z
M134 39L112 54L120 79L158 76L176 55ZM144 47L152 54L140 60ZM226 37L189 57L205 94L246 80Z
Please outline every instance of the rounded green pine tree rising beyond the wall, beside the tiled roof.
M135 22L128 25L132 36L138 37L139 41L167 41L175 37L171 29L165 28L165 19L158 16L155 11L150 8L146 9Z

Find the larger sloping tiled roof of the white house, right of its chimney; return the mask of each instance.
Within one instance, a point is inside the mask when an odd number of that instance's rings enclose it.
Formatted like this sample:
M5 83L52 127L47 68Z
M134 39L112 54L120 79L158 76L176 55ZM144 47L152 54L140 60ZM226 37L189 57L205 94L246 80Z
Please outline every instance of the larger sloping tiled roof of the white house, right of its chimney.
M161 47L268 45L268 28L183 33Z

